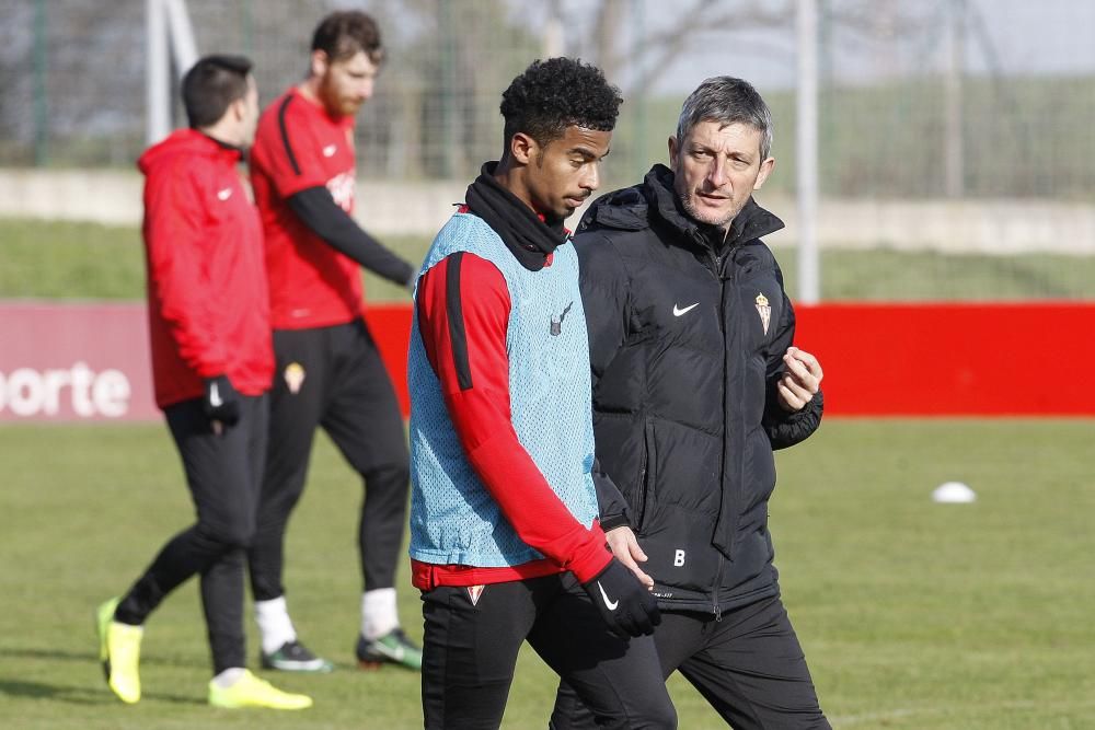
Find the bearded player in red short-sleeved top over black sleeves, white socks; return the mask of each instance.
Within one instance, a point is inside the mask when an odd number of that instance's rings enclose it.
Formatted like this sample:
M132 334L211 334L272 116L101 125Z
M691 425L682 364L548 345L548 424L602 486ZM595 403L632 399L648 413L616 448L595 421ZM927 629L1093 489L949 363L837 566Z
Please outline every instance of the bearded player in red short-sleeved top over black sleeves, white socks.
M355 115L372 95L382 60L372 18L327 15L312 38L310 76L266 108L252 152L277 358L269 459L250 555L262 659L270 669L331 669L298 641L281 583L286 524L304 488L316 426L368 489L359 528L365 591L357 658L366 665L422 663L395 611L407 447L395 392L361 316L360 267L401 285L414 270L350 217Z

